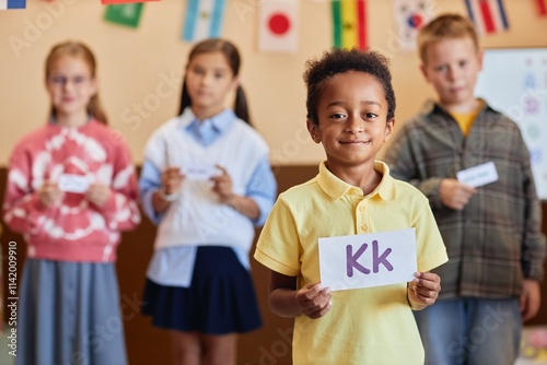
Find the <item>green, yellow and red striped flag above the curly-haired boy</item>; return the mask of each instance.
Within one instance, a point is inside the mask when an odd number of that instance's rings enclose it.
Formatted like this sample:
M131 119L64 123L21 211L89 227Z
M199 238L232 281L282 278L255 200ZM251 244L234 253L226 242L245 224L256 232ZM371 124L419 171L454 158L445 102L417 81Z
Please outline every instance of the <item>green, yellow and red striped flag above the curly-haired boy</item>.
M366 36L366 1L333 0L333 40L338 48L365 49Z

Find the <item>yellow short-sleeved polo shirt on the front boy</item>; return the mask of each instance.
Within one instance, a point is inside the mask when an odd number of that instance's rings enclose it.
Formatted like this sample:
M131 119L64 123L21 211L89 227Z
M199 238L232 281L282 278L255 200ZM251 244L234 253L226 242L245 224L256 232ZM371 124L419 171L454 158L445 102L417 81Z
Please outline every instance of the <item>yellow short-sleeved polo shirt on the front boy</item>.
M427 198L389 176L376 161L381 184L368 196L319 165L319 174L281 193L258 238L255 258L299 287L319 282L321 237L416 228L418 270L447 261ZM423 364L423 348L407 284L333 292L319 319L295 318L293 364Z

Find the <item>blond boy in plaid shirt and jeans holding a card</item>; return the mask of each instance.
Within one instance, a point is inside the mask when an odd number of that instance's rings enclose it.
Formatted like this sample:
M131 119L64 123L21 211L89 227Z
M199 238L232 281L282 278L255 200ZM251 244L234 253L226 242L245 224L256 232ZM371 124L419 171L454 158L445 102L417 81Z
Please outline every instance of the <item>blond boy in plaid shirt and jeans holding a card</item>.
M418 46L438 98L401 127L385 161L429 198L449 250L449 263L434 270L443 281L438 303L415 314L426 364L513 364L544 275L528 151L517 126L475 97L482 52L468 20L440 15ZM494 182L474 188L456 179L490 162Z

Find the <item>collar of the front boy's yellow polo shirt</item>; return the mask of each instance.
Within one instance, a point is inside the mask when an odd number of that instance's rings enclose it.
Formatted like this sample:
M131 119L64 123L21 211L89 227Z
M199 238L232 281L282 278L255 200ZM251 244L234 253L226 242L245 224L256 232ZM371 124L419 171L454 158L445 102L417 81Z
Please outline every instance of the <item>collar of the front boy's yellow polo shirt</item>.
M389 176L389 167L387 167L387 165L382 161L376 160L374 161L374 170L381 173L383 177L379 186L370 195L368 195L368 197L371 198L379 195L379 197L384 200L395 199L395 180ZM325 162L319 164L317 184L327 196L335 200L342 198L345 195L363 196L363 191L360 188L341 180L330 173Z

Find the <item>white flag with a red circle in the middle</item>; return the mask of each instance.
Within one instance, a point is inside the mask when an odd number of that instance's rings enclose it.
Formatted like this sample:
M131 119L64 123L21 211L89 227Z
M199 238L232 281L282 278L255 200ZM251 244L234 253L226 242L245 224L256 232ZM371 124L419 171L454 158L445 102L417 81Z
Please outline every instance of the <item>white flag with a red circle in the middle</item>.
M258 49L294 52L299 48L300 1L263 0L259 8Z

